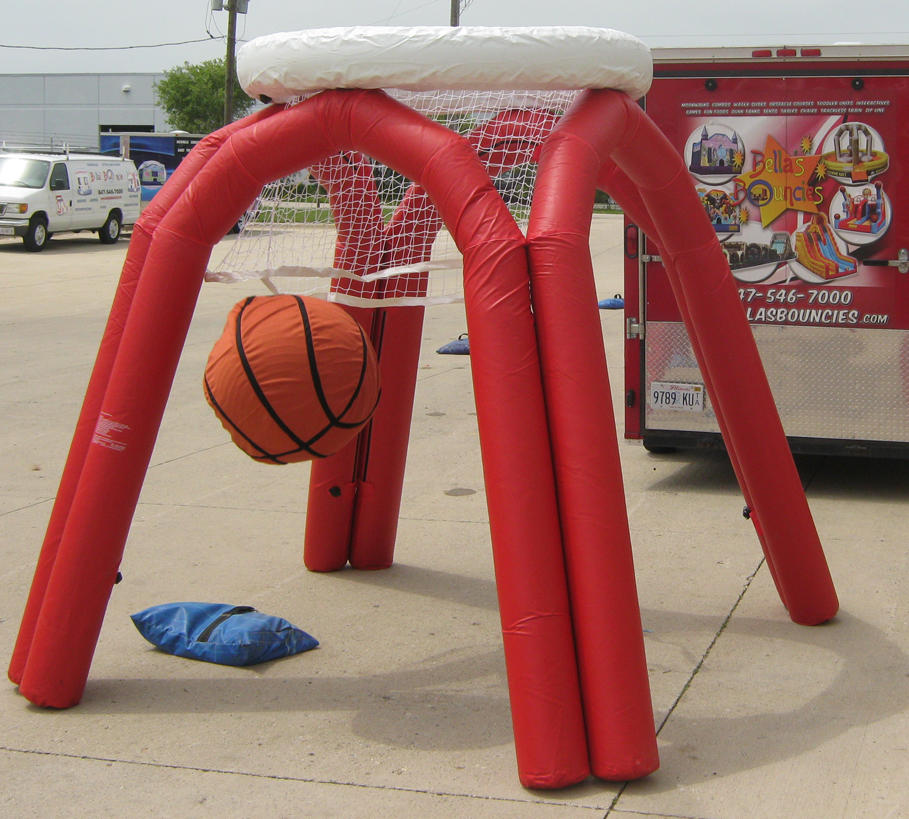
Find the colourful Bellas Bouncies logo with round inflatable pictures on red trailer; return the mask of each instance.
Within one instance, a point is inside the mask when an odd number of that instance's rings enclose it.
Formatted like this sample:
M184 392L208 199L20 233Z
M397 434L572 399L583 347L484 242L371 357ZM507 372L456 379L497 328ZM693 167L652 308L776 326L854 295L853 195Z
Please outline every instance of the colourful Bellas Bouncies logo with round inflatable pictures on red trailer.
M876 178L890 158L867 123L760 116L689 129L686 166L741 282L820 284L852 276L859 270L855 251L891 224Z

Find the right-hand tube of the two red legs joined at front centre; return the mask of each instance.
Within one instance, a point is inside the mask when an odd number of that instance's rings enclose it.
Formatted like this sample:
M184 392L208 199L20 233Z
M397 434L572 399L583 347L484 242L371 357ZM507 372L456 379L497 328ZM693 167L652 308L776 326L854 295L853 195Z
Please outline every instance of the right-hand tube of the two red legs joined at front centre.
M624 123L584 107L543 148L527 238L591 768L627 780L659 755L590 259L601 161L589 148Z

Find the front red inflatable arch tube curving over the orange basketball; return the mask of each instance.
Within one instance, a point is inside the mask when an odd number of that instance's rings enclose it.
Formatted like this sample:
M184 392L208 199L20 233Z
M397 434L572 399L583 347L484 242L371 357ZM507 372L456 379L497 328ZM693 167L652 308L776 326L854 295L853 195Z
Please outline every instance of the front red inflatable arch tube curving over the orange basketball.
M529 787L581 781L589 764L524 237L469 145L378 91L327 92L239 130L155 229L20 692L53 707L82 696L212 246L262 184L342 148L430 191L464 255L519 775Z

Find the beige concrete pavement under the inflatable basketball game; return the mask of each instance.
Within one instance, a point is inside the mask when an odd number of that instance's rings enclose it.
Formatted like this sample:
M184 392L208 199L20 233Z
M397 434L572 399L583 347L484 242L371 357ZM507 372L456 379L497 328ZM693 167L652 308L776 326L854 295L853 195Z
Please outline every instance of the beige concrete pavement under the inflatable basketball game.
M601 298L623 290L621 244L620 219L598 217ZM126 247L0 241L4 663ZM228 309L264 292L203 288L82 703L45 711L0 688L0 815L909 816L909 462L798 459L841 602L805 628L725 456L621 441L661 768L528 791L470 359L435 353L466 330L463 307L426 314L394 567L313 574L308 467L253 463L202 397ZM600 315L621 424L622 315ZM321 645L246 669L172 657L129 614L174 600L253 605Z

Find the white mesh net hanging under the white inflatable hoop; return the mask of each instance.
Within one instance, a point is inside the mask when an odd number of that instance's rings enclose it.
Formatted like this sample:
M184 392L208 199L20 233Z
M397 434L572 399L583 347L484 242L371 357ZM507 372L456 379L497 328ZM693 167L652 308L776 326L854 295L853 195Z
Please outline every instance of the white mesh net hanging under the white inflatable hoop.
M387 93L463 136L525 229L540 146L577 91ZM273 293L359 306L463 298L461 255L432 201L397 171L353 151L266 185L236 238L216 249L206 279L261 279Z

